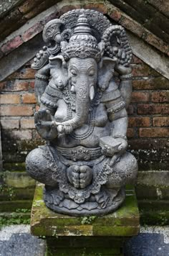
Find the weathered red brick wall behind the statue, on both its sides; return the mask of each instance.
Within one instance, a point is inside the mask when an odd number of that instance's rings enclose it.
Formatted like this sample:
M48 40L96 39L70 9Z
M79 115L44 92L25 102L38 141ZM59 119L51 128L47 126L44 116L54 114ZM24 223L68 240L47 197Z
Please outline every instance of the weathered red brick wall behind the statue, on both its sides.
M4 170L23 170L27 152L42 143L34 129L34 73L27 63L0 83ZM139 170L168 170L169 81L136 57L132 75L129 150Z

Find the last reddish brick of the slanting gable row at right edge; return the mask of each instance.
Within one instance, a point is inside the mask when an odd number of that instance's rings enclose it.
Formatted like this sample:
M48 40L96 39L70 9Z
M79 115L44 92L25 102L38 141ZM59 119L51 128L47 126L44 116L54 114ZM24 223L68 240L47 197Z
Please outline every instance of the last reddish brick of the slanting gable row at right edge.
M161 52L167 53L169 50L168 44L163 42L163 40L160 40L160 38L156 37L156 35L148 34L145 38L145 41L148 42L150 45L158 48L158 50L160 50Z

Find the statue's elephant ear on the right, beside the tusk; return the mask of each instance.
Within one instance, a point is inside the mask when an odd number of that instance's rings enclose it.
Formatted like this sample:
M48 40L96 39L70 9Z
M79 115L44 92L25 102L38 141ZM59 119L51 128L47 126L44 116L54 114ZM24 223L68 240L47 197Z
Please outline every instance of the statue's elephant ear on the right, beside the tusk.
M101 91L105 91L112 79L114 74L115 64L117 63L117 58L103 57L98 63L98 76L97 84Z

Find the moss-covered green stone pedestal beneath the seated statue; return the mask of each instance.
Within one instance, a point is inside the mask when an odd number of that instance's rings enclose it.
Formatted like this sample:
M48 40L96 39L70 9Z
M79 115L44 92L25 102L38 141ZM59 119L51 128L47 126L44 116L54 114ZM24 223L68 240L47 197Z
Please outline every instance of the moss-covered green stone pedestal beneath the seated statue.
M139 232L139 212L133 188L126 189L120 209L105 216L75 217L54 213L43 201L38 183L32 206L31 232L47 239L48 255L123 255L126 239Z

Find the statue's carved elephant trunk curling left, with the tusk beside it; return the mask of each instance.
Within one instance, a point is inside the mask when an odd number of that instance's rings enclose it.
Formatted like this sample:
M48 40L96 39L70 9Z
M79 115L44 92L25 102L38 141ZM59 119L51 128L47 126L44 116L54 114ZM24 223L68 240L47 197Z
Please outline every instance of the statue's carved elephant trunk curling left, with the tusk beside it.
M56 123L59 133L70 133L73 129L81 127L82 124L87 122L89 116L90 99L93 96L93 86L91 88L87 86L87 83L80 83L79 88L76 91L76 114L73 119L66 122Z

